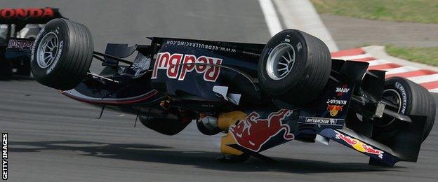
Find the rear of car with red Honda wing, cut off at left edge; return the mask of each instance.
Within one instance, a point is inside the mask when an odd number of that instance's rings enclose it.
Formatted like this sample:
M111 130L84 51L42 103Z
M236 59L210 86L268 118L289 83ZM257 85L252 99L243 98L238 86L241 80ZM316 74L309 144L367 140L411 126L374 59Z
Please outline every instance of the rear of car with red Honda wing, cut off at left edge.
M9 79L15 75L30 76L29 57L14 57L6 59L6 48L21 46L32 48L32 41L8 41L9 37L35 39L41 30L41 24L62 18L57 8L4 8L0 9L0 80ZM9 44L11 43L11 44Z

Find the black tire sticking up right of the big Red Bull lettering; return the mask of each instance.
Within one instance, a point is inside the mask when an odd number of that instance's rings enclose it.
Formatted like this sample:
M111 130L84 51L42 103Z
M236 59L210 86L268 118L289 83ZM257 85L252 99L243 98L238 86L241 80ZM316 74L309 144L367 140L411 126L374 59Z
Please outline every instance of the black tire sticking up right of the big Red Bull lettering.
M281 46L292 48L293 51L288 52L289 55L293 53L291 57L295 56L295 61L290 72L282 78L274 79L272 76L277 76L267 71L268 59ZM278 66L276 69L279 69ZM331 55L324 42L296 29L286 29L273 36L265 45L258 62L258 80L263 90L274 98L295 106L312 102L324 89L330 71Z

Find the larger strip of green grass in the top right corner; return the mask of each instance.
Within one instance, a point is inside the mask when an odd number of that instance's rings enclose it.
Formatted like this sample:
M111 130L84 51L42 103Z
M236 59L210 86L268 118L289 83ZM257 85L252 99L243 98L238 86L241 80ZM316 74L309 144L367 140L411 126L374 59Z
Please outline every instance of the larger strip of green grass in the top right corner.
M438 0L310 0L318 13L371 20L438 23Z

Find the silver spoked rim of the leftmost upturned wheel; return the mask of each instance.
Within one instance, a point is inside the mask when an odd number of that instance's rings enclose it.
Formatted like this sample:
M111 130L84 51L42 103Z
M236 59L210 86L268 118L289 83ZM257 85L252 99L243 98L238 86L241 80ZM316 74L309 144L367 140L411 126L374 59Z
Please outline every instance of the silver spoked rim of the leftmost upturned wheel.
M58 36L50 32L41 38L41 42L36 50L36 63L41 69L45 69L55 61L58 55L59 40Z

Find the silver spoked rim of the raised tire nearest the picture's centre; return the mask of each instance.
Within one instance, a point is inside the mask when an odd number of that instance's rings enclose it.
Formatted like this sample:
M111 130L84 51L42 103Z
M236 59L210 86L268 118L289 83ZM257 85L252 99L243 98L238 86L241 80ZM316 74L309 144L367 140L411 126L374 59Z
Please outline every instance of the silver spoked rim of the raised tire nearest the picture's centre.
M266 71L272 80L281 80L291 73L295 64L295 50L288 43L280 43L267 57Z

